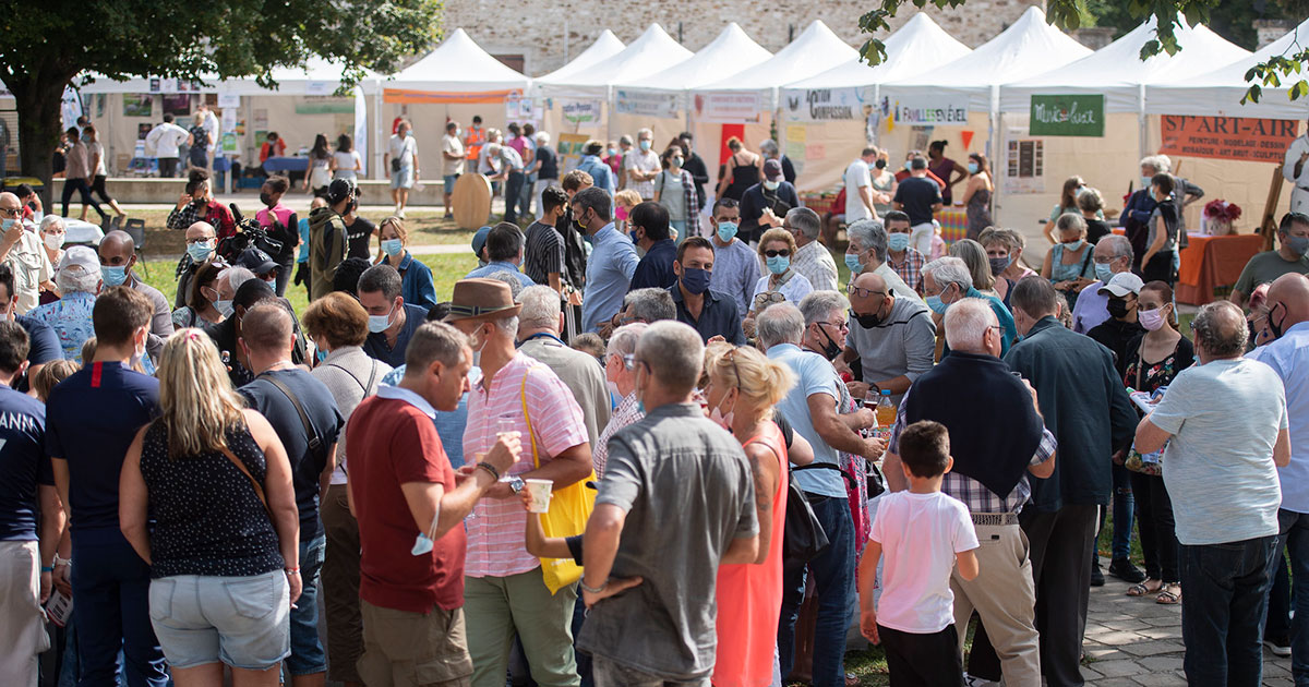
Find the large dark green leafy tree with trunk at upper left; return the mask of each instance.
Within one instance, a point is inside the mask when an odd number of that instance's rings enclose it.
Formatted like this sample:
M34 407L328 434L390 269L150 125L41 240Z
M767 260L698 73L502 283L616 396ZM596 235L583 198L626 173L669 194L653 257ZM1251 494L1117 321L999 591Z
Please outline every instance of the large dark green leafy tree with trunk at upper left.
M395 71L440 37L441 0L0 1L0 80L18 109L20 167L47 182L64 86L79 75L200 79L254 76L321 55Z

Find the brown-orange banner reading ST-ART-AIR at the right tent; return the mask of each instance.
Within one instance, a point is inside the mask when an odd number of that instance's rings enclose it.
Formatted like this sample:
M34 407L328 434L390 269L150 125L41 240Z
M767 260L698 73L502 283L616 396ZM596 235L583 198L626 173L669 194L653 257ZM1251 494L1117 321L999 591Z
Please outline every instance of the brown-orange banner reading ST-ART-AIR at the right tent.
M1297 124L1293 119L1162 115L1160 137L1164 143L1158 152L1276 164L1296 139Z

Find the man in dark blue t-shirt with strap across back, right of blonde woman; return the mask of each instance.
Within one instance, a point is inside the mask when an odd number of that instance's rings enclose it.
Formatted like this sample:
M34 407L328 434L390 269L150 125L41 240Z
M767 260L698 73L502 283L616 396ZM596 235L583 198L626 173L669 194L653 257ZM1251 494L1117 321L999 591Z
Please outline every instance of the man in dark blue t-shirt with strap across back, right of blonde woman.
M278 302L259 302L241 318L238 345L255 378L238 393L251 408L268 419L285 446L296 508L300 509L300 578L304 580L304 591L291 608L287 670L296 682L301 682L301 678L327 671L327 656L318 639L315 598L318 572L327 547L318 523L318 502L335 468L336 437L346 420L327 386L291 361L295 342L291 313Z

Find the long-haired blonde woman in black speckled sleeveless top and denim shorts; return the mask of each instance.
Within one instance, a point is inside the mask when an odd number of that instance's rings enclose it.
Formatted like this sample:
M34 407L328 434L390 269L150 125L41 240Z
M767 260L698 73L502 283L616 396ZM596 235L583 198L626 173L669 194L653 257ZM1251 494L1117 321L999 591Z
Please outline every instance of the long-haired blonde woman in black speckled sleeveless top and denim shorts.
M123 537L151 565L151 624L179 687L221 686L223 663L238 687L275 686L301 588L287 451L200 330L169 336L158 379L161 415L118 487Z

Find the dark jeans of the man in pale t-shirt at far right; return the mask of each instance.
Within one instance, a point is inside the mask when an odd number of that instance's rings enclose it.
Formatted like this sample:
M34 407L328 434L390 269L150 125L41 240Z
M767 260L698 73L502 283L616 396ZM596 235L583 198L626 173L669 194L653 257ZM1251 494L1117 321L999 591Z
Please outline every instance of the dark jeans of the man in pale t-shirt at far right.
M1182 641L1192 687L1258 687L1278 538L1182 546ZM1296 614L1299 615L1299 614Z

